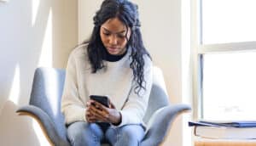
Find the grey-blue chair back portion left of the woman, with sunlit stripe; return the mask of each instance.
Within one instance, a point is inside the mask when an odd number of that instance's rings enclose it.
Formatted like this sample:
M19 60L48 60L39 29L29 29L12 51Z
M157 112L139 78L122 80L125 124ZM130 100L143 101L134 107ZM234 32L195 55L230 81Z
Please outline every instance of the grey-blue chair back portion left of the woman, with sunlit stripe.
M31 105L44 110L55 122L60 137L67 139L64 115L61 114L61 96L65 81L65 70L54 68L38 68L35 71Z

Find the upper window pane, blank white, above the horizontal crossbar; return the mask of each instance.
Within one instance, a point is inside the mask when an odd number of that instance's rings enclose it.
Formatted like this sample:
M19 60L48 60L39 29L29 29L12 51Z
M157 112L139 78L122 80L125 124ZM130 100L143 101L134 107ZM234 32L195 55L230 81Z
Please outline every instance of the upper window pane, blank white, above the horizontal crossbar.
M204 44L256 41L255 0L201 0Z

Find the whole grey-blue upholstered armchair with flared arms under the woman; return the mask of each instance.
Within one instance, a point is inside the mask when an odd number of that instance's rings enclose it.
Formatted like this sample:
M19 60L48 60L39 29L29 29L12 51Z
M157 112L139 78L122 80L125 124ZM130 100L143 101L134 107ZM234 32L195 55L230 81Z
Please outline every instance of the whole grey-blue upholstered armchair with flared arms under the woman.
M56 146L70 145L64 116L61 114L64 81L65 70L38 68L33 79L29 105L20 107L16 111L19 115L31 115L35 118L49 143ZM162 73L160 69L154 68L154 83L148 101L148 110L143 118L148 129L141 145L160 145L175 117L189 110L190 107L186 104L169 104Z

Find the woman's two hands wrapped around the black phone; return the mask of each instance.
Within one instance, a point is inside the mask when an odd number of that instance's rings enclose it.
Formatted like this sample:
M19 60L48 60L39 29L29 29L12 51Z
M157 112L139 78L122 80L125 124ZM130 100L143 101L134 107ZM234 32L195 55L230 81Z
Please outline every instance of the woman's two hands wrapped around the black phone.
M108 108L94 100L89 100L86 106L85 117L88 122L102 121L113 125L118 125L121 122L121 114L112 103Z

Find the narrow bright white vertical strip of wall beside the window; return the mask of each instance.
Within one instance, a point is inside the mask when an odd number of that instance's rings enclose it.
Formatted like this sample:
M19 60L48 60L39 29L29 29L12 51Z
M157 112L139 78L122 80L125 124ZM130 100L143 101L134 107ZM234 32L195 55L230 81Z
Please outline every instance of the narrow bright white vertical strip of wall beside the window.
M182 0L182 102L191 103L191 69L190 69L190 1ZM183 115L183 146L191 145L191 129L188 121L189 113Z

